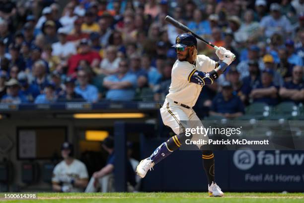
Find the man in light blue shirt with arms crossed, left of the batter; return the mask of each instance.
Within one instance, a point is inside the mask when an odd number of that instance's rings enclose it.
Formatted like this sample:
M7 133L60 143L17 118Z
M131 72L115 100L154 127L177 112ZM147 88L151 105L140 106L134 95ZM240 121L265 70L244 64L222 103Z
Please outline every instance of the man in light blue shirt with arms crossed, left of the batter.
M119 63L118 74L106 77L103 86L108 89L106 99L116 101L131 101L137 87L136 75L128 72L128 61L123 59Z

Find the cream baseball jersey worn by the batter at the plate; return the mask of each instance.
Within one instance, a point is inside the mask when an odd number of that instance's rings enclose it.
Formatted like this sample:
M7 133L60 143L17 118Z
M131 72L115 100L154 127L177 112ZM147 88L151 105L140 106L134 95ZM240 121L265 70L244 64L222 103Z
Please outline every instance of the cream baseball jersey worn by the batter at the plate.
M194 106L202 90L202 86L190 83L191 74L195 70L210 72L216 68L216 62L205 55L198 55L195 65L187 61L176 60L171 73L171 85L166 98Z

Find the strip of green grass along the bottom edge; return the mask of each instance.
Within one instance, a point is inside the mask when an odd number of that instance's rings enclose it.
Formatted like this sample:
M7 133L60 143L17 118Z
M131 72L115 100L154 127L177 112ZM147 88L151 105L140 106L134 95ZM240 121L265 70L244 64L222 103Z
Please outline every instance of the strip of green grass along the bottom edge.
M303 203L304 193L225 193L210 198L207 193L38 193L38 200L18 203ZM0 194L3 197L3 194ZM3 201L3 199L2 199Z

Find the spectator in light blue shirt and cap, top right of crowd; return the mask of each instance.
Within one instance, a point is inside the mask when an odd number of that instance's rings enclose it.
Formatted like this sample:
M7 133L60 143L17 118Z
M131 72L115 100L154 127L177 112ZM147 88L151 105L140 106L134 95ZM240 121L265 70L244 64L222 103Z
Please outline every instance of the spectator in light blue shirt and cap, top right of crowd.
M279 33L283 36L290 36L292 26L285 15L281 15L281 6L278 3L271 3L270 15L261 19L260 28L261 35L270 38L274 33Z

